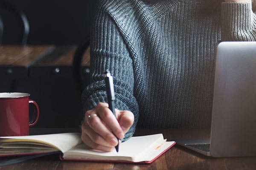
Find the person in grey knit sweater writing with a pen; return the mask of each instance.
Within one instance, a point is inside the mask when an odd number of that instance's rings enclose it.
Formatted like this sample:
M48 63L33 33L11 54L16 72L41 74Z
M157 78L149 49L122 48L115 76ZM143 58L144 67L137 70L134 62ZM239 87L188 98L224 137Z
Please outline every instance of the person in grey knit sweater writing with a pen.
M136 127L209 128L215 46L256 40L256 15L251 0L99 0L91 30L81 139L111 151Z

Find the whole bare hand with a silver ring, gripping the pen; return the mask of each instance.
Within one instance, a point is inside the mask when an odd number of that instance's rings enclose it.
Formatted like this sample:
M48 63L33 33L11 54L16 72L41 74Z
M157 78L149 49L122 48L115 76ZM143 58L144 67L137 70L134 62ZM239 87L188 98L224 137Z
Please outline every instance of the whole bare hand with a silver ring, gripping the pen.
M124 138L134 122L134 115L130 111L116 109L115 112L116 117L107 103L99 103L85 113L81 139L87 146L109 152L118 144L116 137Z

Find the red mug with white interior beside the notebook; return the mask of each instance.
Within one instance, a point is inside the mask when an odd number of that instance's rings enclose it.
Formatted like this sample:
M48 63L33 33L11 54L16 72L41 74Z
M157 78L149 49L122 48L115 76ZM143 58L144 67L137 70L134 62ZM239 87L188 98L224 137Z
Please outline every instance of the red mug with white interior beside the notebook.
M26 93L0 93L0 136L26 136L39 118L38 104ZM29 121L29 104L33 106Z

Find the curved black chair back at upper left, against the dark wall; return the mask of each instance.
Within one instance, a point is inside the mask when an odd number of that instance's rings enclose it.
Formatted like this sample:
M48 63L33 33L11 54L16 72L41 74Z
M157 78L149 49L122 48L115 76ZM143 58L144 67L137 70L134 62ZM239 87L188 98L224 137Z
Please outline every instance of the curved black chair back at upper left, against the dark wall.
M5 9L12 14L14 14L19 20L22 25L22 31L21 31L21 39L20 39L20 44L26 45L28 35L29 35L29 21L27 20L26 15L20 11L17 7L11 5L10 3L7 2L2 2L0 1L0 9ZM0 19L0 44L3 40L3 35L4 35L4 22L3 18Z

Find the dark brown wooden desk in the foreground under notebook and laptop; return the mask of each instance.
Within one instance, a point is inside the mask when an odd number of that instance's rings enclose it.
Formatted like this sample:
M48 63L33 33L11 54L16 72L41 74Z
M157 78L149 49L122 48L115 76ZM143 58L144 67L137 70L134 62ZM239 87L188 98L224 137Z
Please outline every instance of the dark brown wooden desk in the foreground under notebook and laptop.
M44 130L41 130L41 132ZM56 132L60 132L58 129ZM68 132L76 130L68 129ZM33 131L34 133L36 130ZM54 130L51 130L54 132ZM64 132L64 131L63 131ZM163 133L168 140L209 136L209 130L144 129L136 135ZM3 159L0 159L3 161ZM47 156L23 163L0 167L0 170L255 170L256 156L210 158L177 144L151 164L122 164L81 161L59 161L58 156Z

